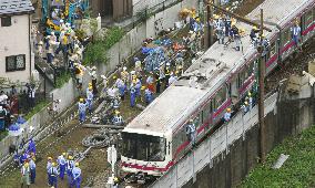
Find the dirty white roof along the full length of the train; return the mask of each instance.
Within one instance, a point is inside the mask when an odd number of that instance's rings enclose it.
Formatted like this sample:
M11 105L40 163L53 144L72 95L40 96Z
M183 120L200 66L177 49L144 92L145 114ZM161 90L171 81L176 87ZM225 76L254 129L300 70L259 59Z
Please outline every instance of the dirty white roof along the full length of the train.
M294 9L298 4L305 6L308 1L266 0L247 17L252 20L256 19L258 22L260 9L263 8L264 18L267 20L265 24L273 30L272 33L264 31L270 38L277 31L274 23L280 24L284 18L293 17ZM312 1L314 2L314 0ZM187 115L196 109L200 102L210 97L221 87L231 72L240 69L253 55L257 55L250 40L252 27L240 22L236 23L236 27L244 29L246 33L242 38L243 51L236 51L233 42L227 48L217 42L214 43L174 85L170 86L136 116L126 126L126 129L135 133L141 129L148 134L150 132L164 134L170 129L174 130L179 124L187 119ZM226 40L225 38L225 42Z

